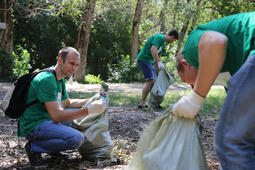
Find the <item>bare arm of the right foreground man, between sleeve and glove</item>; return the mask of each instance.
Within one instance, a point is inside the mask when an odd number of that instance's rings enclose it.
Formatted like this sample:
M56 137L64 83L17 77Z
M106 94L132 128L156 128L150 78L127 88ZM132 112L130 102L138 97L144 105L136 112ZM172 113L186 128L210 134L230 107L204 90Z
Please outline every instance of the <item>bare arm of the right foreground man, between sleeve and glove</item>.
M227 37L217 32L208 31L200 39L199 70L194 90L206 97L216 80L225 61Z

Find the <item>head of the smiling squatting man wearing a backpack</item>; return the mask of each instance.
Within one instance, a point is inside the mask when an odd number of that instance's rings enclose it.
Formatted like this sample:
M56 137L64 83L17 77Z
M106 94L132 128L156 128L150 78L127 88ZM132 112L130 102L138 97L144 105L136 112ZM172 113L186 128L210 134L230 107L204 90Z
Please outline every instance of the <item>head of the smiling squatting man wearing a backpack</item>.
M58 63L61 77L71 77L80 65L80 54L73 47L64 47L59 51Z

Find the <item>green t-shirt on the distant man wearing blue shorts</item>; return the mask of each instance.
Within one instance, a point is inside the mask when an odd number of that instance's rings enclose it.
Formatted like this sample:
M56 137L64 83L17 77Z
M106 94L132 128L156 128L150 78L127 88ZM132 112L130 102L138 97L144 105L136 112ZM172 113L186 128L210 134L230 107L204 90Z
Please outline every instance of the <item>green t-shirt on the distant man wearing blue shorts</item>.
M143 62L154 63L154 58L151 54L151 46L155 45L158 50L158 54L162 54L165 48L165 36L163 34L155 34L148 39L148 41L143 46L142 50L137 56L137 60Z

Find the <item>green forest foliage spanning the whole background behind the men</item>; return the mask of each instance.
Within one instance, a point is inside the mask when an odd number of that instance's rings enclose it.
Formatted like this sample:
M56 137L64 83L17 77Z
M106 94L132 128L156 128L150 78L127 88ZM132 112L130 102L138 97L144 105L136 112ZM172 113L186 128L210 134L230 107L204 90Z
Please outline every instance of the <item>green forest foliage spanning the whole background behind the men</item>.
M136 64L130 65L128 59L131 53L131 29L136 3L135 0L96 2L86 74L100 75L102 80L112 82L144 81L141 70ZM58 51L62 47L75 47L87 1L19 0L18 4L13 6L13 50L16 55L20 55L18 45L23 47L30 55L29 64L33 68L52 66L56 63ZM152 35L165 34L172 29L184 34L185 42L188 34L198 24L235 13L254 11L254 7L254 0L144 1L139 23L139 49ZM163 13L165 15L161 16ZM162 23L165 32L160 32ZM179 42L178 48L177 43L173 43L165 49L165 55L162 56L164 65L177 82L180 79L175 70L174 58L177 49L184 44ZM4 55L1 55L1 58L6 60L4 63L12 62L11 58ZM1 64L0 67L1 73L8 72L6 65ZM16 72L19 74L18 70ZM7 75L11 78L10 72L4 74Z

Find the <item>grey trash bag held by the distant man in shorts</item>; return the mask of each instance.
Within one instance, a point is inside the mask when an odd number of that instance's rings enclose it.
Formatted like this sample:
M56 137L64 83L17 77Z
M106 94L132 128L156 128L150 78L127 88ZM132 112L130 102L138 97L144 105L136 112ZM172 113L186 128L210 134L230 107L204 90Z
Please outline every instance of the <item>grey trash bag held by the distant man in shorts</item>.
M149 105L158 108L165 98L168 87L174 83L174 79L166 69L159 70L156 82L151 89Z

